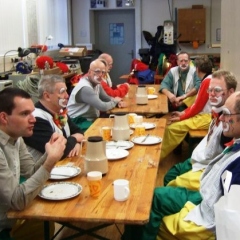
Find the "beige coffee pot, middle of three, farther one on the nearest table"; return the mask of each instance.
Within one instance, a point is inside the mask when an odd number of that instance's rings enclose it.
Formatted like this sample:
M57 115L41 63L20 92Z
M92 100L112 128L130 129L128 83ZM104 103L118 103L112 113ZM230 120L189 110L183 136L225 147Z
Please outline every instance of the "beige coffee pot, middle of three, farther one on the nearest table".
M116 113L109 117L114 117L112 139L114 141L129 140L130 128L128 124L128 115L125 113Z

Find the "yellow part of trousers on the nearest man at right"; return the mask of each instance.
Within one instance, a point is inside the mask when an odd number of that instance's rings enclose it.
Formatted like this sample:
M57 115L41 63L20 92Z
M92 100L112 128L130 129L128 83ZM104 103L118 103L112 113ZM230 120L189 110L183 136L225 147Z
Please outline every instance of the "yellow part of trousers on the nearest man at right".
M183 220L194 207L193 203L187 202L179 213L164 217L157 240L215 240L216 236L213 232Z

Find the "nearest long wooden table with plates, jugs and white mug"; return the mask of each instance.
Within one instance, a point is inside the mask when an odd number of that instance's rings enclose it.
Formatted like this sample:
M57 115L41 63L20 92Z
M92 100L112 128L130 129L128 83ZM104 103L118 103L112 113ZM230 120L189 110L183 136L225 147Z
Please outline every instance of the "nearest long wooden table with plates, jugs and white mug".
M86 131L85 136L99 135L101 126L113 124L113 119L97 119ZM166 119L144 119L153 122L156 128L147 133L163 137ZM131 136L133 137L134 134ZM94 151L94 149L93 149ZM99 222L103 226L113 223L144 224L149 220L152 196L157 177L161 143L155 145L134 145L125 159L108 161L109 171L103 177L101 195L94 199L89 196L86 174L84 173L84 159L82 157L66 158L58 165L69 163L82 169L80 175L65 181L82 185L83 191L77 197L62 201L49 201L36 197L32 204L23 211L9 211L8 218L12 219L41 219L60 222L70 226L69 222ZM130 182L130 197L125 202L117 202L113 198L112 183L115 179L124 178ZM53 180L48 183L54 182ZM93 234L82 230L80 234ZM47 235L47 234L46 234ZM96 235L94 235L96 236ZM48 236L45 239L49 239Z

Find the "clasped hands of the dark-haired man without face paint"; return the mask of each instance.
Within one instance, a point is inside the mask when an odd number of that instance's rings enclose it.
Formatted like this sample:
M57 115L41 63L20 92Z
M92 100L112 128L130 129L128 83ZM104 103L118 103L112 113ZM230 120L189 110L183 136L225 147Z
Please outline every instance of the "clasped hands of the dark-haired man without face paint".
M66 143L66 138L56 132L53 133L49 142L46 143L45 150L47 153L47 159L44 162L43 166L47 171L51 172L56 162L61 159L66 147Z

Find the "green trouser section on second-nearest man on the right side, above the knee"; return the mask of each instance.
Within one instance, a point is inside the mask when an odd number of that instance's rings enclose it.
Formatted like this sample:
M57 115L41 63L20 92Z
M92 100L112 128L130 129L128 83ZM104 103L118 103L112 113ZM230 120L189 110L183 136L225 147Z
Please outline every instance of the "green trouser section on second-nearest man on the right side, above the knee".
M192 170L191 158L188 158L184 162L175 164L164 176L163 183L164 186L167 186L169 182L174 180L176 177Z

